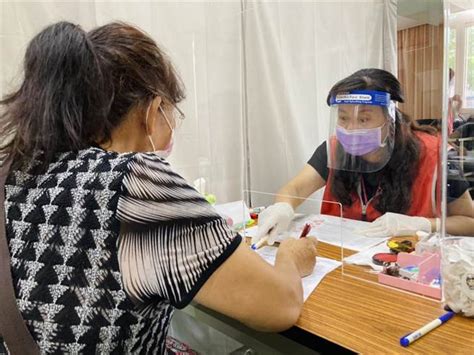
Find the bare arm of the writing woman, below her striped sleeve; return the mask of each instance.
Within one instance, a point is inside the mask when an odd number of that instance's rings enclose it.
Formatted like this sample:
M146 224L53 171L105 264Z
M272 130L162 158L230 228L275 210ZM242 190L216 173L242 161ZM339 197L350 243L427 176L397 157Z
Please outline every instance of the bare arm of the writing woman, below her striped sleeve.
M289 328L296 323L303 305L301 272L296 258L280 251L272 267L242 243L194 300L254 329Z

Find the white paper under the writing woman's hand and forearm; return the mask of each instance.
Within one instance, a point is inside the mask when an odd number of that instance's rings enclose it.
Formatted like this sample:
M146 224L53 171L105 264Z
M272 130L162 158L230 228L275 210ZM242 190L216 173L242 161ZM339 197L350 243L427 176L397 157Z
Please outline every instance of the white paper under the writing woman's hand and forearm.
M275 257L278 248L264 246L257 250L257 253L269 264L275 265ZM318 287L321 280L341 265L340 261L317 257L316 266L311 275L303 277L301 283L303 284L303 299L306 301L309 295Z

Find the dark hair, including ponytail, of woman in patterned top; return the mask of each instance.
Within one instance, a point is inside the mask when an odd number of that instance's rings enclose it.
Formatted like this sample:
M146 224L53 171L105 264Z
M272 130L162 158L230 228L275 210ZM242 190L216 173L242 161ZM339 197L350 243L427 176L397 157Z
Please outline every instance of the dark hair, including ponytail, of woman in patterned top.
M58 152L109 141L132 107L157 95L177 103L184 89L143 31L55 23L31 40L20 88L0 101L0 154L14 167L40 155L46 167Z

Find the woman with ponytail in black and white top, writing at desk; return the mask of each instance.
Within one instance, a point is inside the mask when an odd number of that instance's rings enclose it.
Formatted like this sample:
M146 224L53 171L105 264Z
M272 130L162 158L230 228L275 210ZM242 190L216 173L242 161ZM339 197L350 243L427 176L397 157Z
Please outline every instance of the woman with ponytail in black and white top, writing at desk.
M296 322L314 240L284 243L270 266L173 171L184 91L151 37L56 23L24 69L0 101L0 342L163 354L173 309L193 300L260 330Z

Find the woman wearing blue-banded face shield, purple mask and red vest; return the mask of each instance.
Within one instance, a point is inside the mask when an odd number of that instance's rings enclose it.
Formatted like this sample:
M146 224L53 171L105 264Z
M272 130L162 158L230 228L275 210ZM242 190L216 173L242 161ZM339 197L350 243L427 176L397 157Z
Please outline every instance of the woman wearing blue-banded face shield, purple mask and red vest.
M439 229L440 137L396 108L403 102L398 80L380 69L363 69L329 92L328 140L278 191L259 216L259 234L273 243L288 228L294 209L325 186L321 213L373 222L358 231L386 237ZM450 234L474 235L474 211L462 177L448 184ZM290 197L291 196L291 197ZM335 202L335 203L330 203Z

